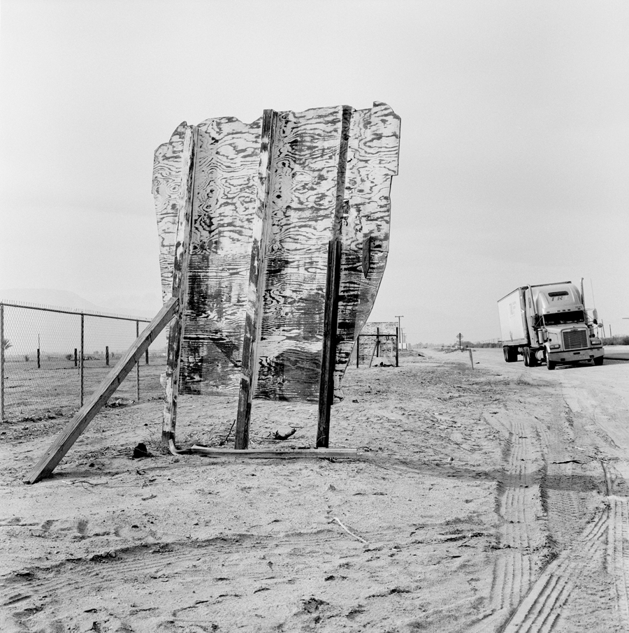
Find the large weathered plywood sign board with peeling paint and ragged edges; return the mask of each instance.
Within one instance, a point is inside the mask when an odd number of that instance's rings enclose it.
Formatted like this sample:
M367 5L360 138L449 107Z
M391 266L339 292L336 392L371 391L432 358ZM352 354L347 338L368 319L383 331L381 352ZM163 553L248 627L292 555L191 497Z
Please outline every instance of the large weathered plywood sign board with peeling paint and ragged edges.
M389 250L399 117L374 103L368 110L266 110L251 124L231 117L180 124L154 159L164 300L173 288L191 128L196 145L180 391L236 394L244 372L255 397L316 401L328 249L335 242L333 385L340 398ZM254 366L243 368L243 358Z

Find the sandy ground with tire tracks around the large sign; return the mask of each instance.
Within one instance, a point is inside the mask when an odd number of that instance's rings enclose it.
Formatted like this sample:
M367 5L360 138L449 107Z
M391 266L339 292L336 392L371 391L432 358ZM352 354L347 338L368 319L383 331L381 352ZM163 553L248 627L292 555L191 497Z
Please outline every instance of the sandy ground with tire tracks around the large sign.
M3 425L0 630L629 630L629 363L400 362L347 372L355 460L173 457L145 402L26 486L64 420ZM225 441L236 402L180 402L180 444ZM315 414L255 402L252 445L312 445Z

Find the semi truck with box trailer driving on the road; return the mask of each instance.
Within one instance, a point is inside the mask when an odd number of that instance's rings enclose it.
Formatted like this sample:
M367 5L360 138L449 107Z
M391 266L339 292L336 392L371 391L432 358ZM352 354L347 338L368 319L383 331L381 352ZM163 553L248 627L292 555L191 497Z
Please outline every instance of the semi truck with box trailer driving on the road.
M602 365L605 349L598 337L598 314L588 316L583 279L572 282L520 286L498 301L500 342L507 363L523 356L526 367L592 361Z

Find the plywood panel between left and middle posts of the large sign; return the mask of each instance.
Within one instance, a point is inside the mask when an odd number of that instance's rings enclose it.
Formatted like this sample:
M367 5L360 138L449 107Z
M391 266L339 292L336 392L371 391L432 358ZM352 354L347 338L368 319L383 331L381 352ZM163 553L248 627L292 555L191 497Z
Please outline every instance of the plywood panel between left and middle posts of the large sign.
M238 393L261 119L198 125L184 393Z

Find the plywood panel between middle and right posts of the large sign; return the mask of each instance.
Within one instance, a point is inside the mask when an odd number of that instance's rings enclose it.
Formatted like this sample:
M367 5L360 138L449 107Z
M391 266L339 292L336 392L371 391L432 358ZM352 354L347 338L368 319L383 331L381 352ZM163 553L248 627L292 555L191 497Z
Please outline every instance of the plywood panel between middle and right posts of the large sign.
M343 108L278 119L256 396L316 402Z

